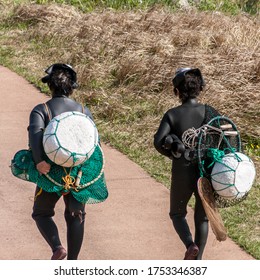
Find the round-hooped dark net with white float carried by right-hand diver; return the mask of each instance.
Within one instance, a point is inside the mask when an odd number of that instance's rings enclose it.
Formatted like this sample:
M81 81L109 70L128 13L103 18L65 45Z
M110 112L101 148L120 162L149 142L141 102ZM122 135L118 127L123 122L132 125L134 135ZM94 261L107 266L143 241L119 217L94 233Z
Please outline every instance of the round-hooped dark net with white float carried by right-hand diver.
M241 138L236 125L229 118L218 116L201 127L197 135L196 149L200 174L211 182L217 206L225 208L240 203L246 198L253 184L251 179L248 180L247 176L242 175L244 168L251 165L254 169L254 165L241 152ZM247 163L239 164L241 168L236 168L238 161L244 160ZM233 182L230 181L231 177L233 177ZM244 179L238 185L244 186L236 188L235 178L241 177ZM221 183L222 186L220 186ZM228 192L230 193L227 194ZM231 192L234 195L231 195Z

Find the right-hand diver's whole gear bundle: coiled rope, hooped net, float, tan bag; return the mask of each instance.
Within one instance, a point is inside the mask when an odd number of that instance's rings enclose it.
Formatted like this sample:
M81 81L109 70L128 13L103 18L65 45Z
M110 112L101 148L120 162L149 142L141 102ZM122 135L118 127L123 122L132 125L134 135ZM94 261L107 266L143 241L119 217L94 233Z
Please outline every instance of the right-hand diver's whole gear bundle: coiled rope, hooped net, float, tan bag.
M182 141L192 149L198 163L200 178L198 193L217 240L226 239L226 230L218 208L240 203L250 190L254 166L241 153L240 133L236 125L224 116L211 118L198 129L183 133ZM250 178L246 173L250 170Z

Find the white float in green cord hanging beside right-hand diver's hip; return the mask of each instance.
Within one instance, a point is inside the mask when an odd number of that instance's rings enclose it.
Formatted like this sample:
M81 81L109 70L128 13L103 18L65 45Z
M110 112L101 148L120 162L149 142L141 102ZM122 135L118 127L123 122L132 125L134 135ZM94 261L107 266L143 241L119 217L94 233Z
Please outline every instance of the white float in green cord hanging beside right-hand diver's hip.
M211 172L214 190L225 199L242 198L252 187L256 175L253 161L242 153L229 153L216 162Z

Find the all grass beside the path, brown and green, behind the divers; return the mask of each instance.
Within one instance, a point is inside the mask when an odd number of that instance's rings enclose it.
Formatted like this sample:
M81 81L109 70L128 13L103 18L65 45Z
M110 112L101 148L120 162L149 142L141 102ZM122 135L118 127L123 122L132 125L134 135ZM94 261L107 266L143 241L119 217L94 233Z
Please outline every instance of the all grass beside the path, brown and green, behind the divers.
M2 1L0 63L43 92L43 69L73 65L80 82L75 98L90 107L102 140L167 187L171 163L154 150L153 135L178 104L171 86L176 68L199 67L207 83L201 101L237 124L259 173L258 1L189 1L182 9L173 2ZM232 9L223 8L227 2ZM249 2L254 15L239 13ZM244 202L221 211L230 237L257 259L259 192L258 177Z

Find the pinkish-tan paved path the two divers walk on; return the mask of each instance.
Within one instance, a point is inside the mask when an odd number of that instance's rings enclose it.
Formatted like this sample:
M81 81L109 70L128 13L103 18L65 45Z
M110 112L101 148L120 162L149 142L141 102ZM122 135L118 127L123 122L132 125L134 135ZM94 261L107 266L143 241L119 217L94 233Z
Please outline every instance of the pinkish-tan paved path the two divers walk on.
M10 161L27 148L31 109L48 98L10 70L0 66L0 259L49 259L51 252L31 219L34 185L12 176ZM86 207L86 232L80 259L177 260L184 246L173 230L169 191L139 166L103 145L109 188L106 202ZM192 209L188 219L192 220ZM66 246L63 201L55 220ZM193 229L193 228L192 228ZM228 239L219 243L210 231L204 259L249 260L251 256Z

